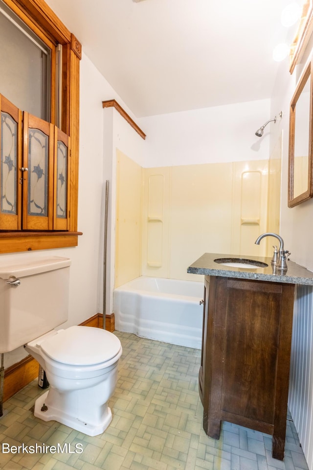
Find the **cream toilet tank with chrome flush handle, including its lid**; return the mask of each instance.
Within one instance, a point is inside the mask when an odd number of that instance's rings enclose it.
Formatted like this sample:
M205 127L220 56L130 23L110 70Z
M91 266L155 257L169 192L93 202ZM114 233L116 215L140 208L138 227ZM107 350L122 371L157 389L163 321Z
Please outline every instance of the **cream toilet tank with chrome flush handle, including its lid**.
M0 353L67 321L69 258L15 258L0 264Z

